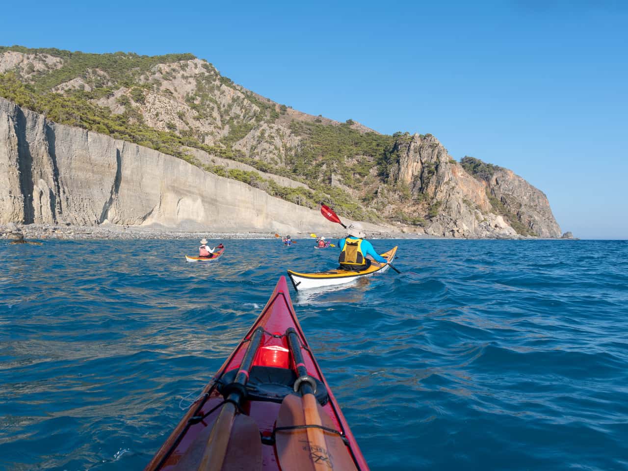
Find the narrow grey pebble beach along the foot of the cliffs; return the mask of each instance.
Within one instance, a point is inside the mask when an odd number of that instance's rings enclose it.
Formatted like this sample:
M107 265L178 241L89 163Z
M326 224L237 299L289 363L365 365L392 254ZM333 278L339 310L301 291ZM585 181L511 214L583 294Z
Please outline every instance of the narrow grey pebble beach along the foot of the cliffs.
M214 231L185 231L170 229L166 227L150 227L150 226L134 226L134 225L60 225L60 224L25 224L19 225L21 232L24 234L25 240L46 241L46 240L62 240L62 241L81 241L81 240L131 240L131 239L275 239L273 231L249 231L229 232L217 228ZM11 240L11 230L7 225L0 225L0 239ZM284 235L284 234L282 234ZM309 232L293 232L293 239L310 239ZM344 237L344 231L327 232L325 237L340 238ZM577 237L556 237L547 239L543 237L439 237L428 236L426 234L418 234L415 232L402 232L402 230L394 230L391 228L389 232L368 232L369 239L445 239L445 240L549 240L549 241L573 241L578 240Z

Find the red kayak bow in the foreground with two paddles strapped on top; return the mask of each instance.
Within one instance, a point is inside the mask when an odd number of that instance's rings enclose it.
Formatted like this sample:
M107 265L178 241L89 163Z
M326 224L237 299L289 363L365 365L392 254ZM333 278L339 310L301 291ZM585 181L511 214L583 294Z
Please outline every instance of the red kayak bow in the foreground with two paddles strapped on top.
M368 470L283 276L145 471L198 469Z

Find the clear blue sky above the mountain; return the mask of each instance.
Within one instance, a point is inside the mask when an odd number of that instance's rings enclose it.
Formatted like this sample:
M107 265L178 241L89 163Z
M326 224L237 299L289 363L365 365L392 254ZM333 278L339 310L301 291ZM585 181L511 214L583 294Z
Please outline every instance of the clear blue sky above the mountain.
M628 2L6 2L0 45L192 52L311 114L511 168L563 230L628 239Z

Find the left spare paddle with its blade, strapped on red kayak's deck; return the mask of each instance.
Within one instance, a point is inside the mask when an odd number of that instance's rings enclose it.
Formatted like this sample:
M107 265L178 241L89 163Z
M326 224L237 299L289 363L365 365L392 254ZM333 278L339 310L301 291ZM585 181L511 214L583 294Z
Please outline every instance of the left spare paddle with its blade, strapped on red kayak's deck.
M263 328L257 328L252 333L251 343L246 349L240 369L236 378L230 384L225 385L225 404L220 409L220 413L214 422L207 441L203 443L205 451L202 454L200 464L195 466L198 471L219 471L228 469L251 469L261 470L262 468L262 445L259 440L259 427L257 423L245 414L236 414L236 408L240 408L242 399L246 396L246 383L249 379L249 370L253 364L253 359L257 354L257 349L261 344ZM198 462L198 457L193 457L193 450L198 449L190 445L192 453L185 458L188 453L181 458L183 467L178 469L190 469L188 465ZM200 454L200 453L199 453ZM180 462L180 464L181 464Z

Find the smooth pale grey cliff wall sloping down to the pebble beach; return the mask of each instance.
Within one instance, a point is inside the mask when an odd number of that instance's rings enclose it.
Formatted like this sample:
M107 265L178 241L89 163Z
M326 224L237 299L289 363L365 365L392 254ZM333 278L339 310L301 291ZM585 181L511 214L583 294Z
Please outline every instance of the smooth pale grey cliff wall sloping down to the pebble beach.
M332 231L317 211L0 98L0 224Z

